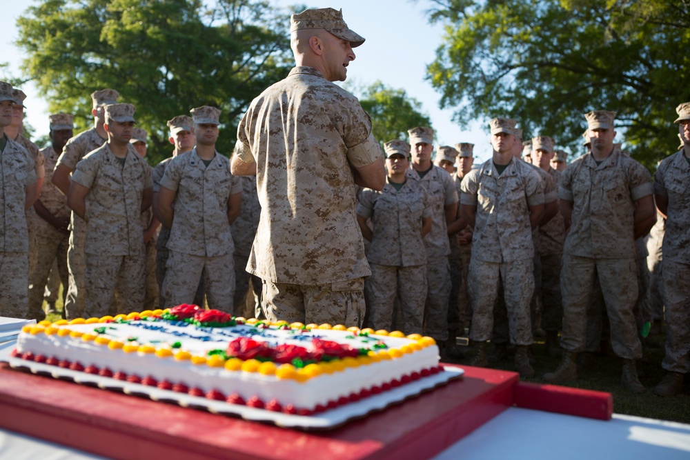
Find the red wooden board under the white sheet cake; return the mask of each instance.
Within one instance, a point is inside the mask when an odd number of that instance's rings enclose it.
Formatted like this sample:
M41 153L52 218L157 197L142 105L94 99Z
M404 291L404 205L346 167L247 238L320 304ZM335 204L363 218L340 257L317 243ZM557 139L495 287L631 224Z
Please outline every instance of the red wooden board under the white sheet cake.
M304 432L40 377L0 363L0 427L114 459L424 459L513 405L515 388L523 385L515 372L462 368L462 379L383 412L335 430ZM520 388L517 394L520 407L540 399L539 388ZM567 394L554 401L568 406Z

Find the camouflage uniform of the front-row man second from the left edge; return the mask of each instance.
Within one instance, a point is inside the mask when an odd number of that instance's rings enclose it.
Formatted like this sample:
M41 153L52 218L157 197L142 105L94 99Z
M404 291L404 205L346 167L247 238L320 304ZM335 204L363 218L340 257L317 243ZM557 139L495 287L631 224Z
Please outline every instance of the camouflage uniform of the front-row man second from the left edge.
M152 186L151 168L128 144L124 165L106 143L77 163L72 181L89 189L86 195L87 317L108 314L117 290L121 309L144 305L144 229L141 200Z

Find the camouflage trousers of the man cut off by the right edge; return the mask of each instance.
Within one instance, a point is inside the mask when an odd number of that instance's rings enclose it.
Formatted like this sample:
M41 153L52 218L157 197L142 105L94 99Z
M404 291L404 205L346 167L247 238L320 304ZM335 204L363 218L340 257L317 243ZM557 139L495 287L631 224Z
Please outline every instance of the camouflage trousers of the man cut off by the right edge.
M662 367L690 372L690 264L664 260L666 291L666 356Z

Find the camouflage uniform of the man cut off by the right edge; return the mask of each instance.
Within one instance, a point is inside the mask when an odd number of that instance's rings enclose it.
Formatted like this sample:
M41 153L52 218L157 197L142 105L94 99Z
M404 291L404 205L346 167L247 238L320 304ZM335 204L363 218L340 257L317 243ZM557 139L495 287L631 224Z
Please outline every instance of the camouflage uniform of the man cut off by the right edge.
M685 147L687 150L687 146ZM654 175L655 194L668 197L664 234L664 303L666 305L666 356L662 367L670 372L690 372L690 161L684 150L661 162Z

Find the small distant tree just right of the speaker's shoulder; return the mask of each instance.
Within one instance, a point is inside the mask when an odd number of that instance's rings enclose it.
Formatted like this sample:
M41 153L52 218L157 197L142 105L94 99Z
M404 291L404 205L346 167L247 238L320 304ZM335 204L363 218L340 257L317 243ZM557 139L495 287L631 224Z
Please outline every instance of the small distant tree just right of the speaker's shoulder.
M359 103L371 116L371 132L381 143L407 139L407 130L415 126L431 127L428 115L421 112L420 101L408 97L405 90L386 87L381 81L364 89Z

